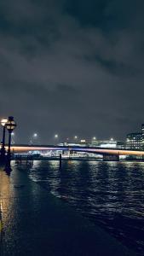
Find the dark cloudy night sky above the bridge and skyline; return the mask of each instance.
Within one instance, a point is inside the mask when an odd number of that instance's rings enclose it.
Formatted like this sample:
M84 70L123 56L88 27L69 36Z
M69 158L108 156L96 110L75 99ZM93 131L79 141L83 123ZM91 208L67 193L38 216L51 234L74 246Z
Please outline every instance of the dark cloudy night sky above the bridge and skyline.
M141 129L143 14L143 0L1 1L0 115L17 143Z

